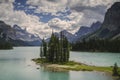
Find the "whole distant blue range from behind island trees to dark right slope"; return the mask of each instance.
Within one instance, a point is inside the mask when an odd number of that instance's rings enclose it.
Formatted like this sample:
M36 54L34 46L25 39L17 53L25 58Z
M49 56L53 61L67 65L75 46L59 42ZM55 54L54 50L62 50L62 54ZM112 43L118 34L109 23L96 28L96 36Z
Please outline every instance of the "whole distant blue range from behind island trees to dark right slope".
M98 30L100 28L100 26L101 26L101 22L97 21L97 22L93 23L90 27L86 27L86 26L80 27L80 29L75 34L71 34L67 30L63 30L61 32L65 35L65 37L67 37L67 39L70 43L75 43L76 41L79 41L82 37ZM60 37L61 32L59 32L59 33L55 32L54 34L57 37ZM46 41L48 42L49 38L46 39Z

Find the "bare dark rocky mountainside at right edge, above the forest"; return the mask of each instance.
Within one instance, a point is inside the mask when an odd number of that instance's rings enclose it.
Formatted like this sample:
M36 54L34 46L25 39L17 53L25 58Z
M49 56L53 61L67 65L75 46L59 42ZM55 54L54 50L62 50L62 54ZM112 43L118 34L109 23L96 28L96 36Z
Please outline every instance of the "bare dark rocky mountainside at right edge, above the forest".
M101 28L87 39L120 39L120 2L114 3L105 14Z

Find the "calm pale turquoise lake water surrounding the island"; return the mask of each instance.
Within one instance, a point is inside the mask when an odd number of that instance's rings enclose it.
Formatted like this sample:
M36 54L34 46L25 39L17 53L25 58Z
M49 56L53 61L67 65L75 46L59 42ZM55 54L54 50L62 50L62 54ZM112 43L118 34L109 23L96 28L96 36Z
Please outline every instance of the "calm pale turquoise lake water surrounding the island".
M120 65L120 54L70 52L70 60L96 66ZM0 80L113 80L104 72L51 72L31 61L39 57L39 47L14 47L0 50ZM40 69L37 69L40 67Z

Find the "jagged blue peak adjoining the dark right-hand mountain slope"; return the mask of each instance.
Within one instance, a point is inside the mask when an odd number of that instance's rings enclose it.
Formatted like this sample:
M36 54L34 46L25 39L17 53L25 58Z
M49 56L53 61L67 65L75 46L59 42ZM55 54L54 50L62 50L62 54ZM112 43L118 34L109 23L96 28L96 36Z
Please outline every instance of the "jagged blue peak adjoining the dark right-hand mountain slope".
M75 33L75 39L80 40L83 36L86 36L88 34L95 32L96 30L100 29L100 27L101 27L101 22L99 22L99 21L93 23L90 27L82 26Z

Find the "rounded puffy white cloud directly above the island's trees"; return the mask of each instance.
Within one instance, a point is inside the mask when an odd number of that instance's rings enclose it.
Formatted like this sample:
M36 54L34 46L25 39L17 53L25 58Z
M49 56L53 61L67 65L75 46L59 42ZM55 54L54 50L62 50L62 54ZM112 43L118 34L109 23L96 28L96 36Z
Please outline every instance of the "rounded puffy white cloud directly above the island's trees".
M75 21L66 21L60 20L59 18L54 18L48 22L48 25L55 31L60 32L61 30L67 30L71 33L75 33L76 29L76 22Z

